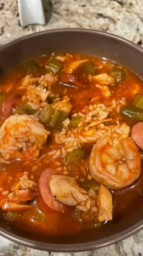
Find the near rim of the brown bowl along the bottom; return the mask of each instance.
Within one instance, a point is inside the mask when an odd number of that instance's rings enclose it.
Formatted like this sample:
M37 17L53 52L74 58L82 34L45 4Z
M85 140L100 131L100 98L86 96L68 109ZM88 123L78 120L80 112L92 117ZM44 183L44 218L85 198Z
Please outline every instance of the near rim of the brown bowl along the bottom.
M139 221L135 225L128 227L128 229L118 232L115 235L110 235L107 238L103 238L99 241L91 241L78 244L59 244L59 243L45 243L33 241L29 238L24 238L22 236L13 234L12 232L5 231L5 229L0 229L0 235L4 238L7 238L14 243L21 244L22 246L31 247L33 249L39 249L42 251L52 251L52 252L84 252L84 251L93 251L101 247L109 246L111 244L118 243L119 241L124 240L125 238L134 235L143 228L143 220Z

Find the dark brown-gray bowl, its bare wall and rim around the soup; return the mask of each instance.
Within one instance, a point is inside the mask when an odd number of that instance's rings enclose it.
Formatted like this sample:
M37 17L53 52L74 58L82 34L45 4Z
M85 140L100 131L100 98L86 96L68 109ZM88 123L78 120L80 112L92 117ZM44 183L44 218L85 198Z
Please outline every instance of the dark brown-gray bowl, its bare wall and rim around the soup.
M143 49L115 35L87 29L48 30L12 41L0 49L0 72L19 62L53 51L97 55L124 65L143 78ZM73 252L97 249L127 238L143 227L143 209L140 207L103 229L88 230L81 235L39 236L0 222L0 235L25 246L45 251Z

